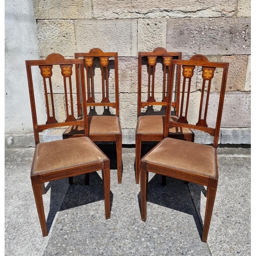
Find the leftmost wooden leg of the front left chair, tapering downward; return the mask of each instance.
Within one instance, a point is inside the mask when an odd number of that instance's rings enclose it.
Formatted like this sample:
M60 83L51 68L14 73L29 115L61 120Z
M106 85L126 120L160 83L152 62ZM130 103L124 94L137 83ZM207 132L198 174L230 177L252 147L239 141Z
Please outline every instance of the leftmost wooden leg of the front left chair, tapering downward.
M46 217L45 217L45 210L44 210L44 203L42 202L42 191L41 191L41 184L33 185L34 197L36 208L38 212L38 217L41 225L42 236L47 237L47 225L46 225Z

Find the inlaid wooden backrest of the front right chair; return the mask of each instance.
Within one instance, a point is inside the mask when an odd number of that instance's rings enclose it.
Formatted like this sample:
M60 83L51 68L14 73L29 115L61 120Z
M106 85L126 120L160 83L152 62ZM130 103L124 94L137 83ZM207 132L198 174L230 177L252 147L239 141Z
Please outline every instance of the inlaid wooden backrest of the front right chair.
M210 62L200 54L189 60L173 60L170 67L169 90L172 90L175 70L181 67L180 112L176 121L165 122L164 136L170 127L187 127L214 136L217 148L229 63ZM166 115L170 116L168 97ZM208 127L209 123L210 127Z

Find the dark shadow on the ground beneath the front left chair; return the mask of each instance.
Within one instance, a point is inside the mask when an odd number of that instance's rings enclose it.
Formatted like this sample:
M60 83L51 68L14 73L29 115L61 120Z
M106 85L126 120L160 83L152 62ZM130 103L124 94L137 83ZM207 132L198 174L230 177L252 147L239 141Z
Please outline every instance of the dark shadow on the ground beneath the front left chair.
M68 179L48 183L46 193L51 188L50 210L46 221L48 230L50 230L58 211L104 200L103 181L97 172L90 173L89 185L85 185L84 181L85 176L78 175L73 177L72 185L69 185ZM110 191L110 210L112 204L113 193Z

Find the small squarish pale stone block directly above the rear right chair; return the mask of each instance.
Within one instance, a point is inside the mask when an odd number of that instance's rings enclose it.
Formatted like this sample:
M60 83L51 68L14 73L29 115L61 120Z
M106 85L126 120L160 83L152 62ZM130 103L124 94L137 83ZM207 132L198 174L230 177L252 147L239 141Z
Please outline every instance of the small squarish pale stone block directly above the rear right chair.
M138 51L151 52L166 45L166 19L138 20Z

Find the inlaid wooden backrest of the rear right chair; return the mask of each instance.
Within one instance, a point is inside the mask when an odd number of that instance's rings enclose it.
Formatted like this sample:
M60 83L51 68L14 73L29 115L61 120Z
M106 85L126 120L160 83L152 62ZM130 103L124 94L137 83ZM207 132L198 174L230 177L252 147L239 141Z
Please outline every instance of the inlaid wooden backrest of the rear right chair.
M141 109L145 106L147 108L150 106L164 106L165 109L170 63L172 59L181 59L181 57L181 52L167 52L162 47L154 49L153 52L138 53L138 116L141 116ZM180 72L177 74L180 74ZM180 87L173 88L175 99L178 101L174 100L172 106L175 108L175 112L178 113L179 91L176 91L176 88L179 89Z

